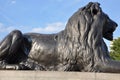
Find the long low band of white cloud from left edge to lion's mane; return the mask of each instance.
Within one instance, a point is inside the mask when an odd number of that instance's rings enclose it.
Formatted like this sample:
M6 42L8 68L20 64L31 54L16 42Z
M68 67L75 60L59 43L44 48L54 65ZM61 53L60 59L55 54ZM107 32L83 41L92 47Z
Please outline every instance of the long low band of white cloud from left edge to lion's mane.
M36 33L57 33L65 28L65 23L56 22L47 24L45 27L34 27L31 26L6 26L0 23L0 33L9 33L14 29L21 30L22 32L36 32Z

